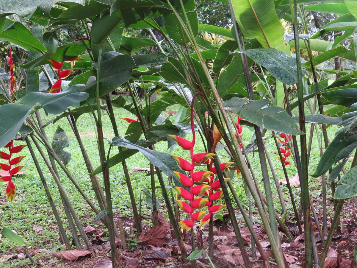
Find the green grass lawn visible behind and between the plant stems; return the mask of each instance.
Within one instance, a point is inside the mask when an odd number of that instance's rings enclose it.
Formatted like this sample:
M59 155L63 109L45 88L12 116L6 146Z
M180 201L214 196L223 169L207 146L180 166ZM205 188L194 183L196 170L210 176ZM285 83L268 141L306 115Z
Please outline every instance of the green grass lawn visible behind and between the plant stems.
M174 108L171 107L171 109ZM121 120L119 118L133 117L133 116L129 114L129 112L127 112L126 110L119 109L119 108L115 108L115 116L117 119L120 135L124 135L125 130L127 128L127 123L126 121ZM46 117L44 114L42 114L42 119L45 122L50 120L51 118L53 118L53 116ZM114 134L113 131L111 130L111 124L109 118L104 112L103 112L103 119L104 119L103 120L104 137L111 139L114 137ZM70 170L73 177L77 180L77 182L80 184L80 186L82 187L84 192L88 195L88 197L91 199L91 201L97 204L95 194L94 191L92 190L90 179L87 174L84 161L82 159L81 151L76 142L74 134L67 122L67 119L62 118L59 121L57 121L54 125L47 126L46 127L47 136L51 140L57 128L57 125L61 126L61 128L63 128L66 131L70 140L70 147L65 149L72 154L71 161L67 165L67 168ZM97 151L94 122L91 120L89 114L84 114L77 120L77 126L79 128L82 141L86 147L87 153L89 154L92 164L94 167L97 167L100 163L100 160ZM328 134L330 139L333 138L333 135L336 130L337 128L335 126L328 129ZM252 134L253 134L253 129L251 127L243 126L243 140L245 144L247 144L250 141ZM188 135L186 138L190 139L191 137L190 135ZM21 144L21 143L22 142L16 142L16 144ZM275 143L273 142L272 139L270 139L267 141L266 145L268 151L270 152L270 156L277 177L278 179L281 179L284 176L283 176L280 161L276 159L278 154L277 154L277 149L275 147ZM167 143L164 141L157 143L155 147L156 150L158 151L168 152ZM106 150L108 148L109 146L106 144ZM315 170L318 160L320 159L320 152L318 150L318 142L317 142L316 135L313 138L312 148L313 149L311 151L310 165L308 170L309 174L311 174ZM202 141L199 138L197 139L196 142L195 151L196 152L204 151ZM59 241L59 235L57 232L56 220L50 208L49 202L47 201L47 197L45 195L44 188L42 187L42 183L39 178L39 175L36 171L34 164L32 163L32 159L29 154L29 151L25 149L23 152L26 155L26 158L24 159L23 162L25 165L25 168L23 170L27 173L27 175L23 175L21 177L14 179L14 183L17 189L17 195L14 202L11 203L7 201L6 194L5 194L6 185L5 184L0 185L0 194L1 194L0 200L2 201L2 204L0 205L0 226L5 226L14 229L18 234L22 235L22 237L24 237L25 239L27 247L46 248L50 250L50 252L54 252L58 250L61 246ZM116 153L117 152L115 148L113 148L111 151L111 155L114 155ZM188 152L183 151L178 146L174 149L172 154L188 157ZM44 171L44 175L46 177L46 181L47 184L49 185L50 191L52 193L52 197L55 201L55 204L57 205L57 208L59 209L60 216L67 230L67 235L69 235L70 237L68 224L65 220L65 213L63 210L63 206L61 204L61 200L59 197L56 184L52 176L50 175L49 170L45 166L43 160L40 158L39 153L36 152L36 155L37 158L39 159L42 170ZM227 157L227 154L225 153L224 149L218 151L218 155L222 161L230 160ZM259 182L260 188L261 190L263 190L263 182L260 175L261 168L257 156L258 156L257 152L255 152L254 154L250 153L250 159L253 166L253 170L255 171L255 174L257 176L257 180ZM140 153L137 153L134 156L130 157L129 159L126 160L126 162L129 170L138 167L149 168L149 162ZM290 162L292 162L292 160L290 160ZM287 167L287 172L289 177L294 176L296 174L295 165L289 165ZM131 175L131 182L135 192L135 197L137 200L138 207L139 207L141 189L151 187L150 177L145 177L145 174L146 172L134 172ZM100 182L102 183L101 175L99 174L98 177L100 179ZM87 224L90 224L93 227L99 225L100 228L103 228L103 225L101 225L99 221L94 222L94 216L95 216L94 212L92 212L92 210L89 208L87 203L81 198L80 193L75 189L74 185L70 182L70 180L66 177L64 172L62 172L61 170L60 170L60 178L69 199L71 200L77 214L81 219L82 225L84 227ZM130 199L127 192L127 187L126 187L124 173L121 164L118 164L110 169L110 179L111 179L112 203L113 203L114 212L120 214L121 216L131 217L132 216L131 204L130 204ZM248 209L248 200L245 197L242 179L237 178L235 176L232 180L232 183L235 187L235 190L241 202L246 207L246 209ZM156 178L156 185L159 185L157 178ZM321 184L318 183L315 178L311 178L310 186L311 186L312 198L321 199L321 195L322 195ZM281 213L281 206L279 203L279 199L277 197L276 188L272 177L271 177L271 188L275 201L276 210L278 213ZM285 184L282 184L281 188L288 209L288 215L290 217L293 217L293 210L292 210L290 197L288 195L287 187ZM293 191L295 193L296 203L298 204L300 198L300 189L293 188ZM161 208L163 208L162 204L164 204L164 201L162 200L161 190L157 190L156 194L157 194L157 198L159 199L159 202L161 203ZM327 195L328 197L331 197L330 189L328 189ZM332 215L332 209L331 209L332 204L329 203L328 205L329 205L328 214ZM320 207L317 207L316 209L318 211ZM162 212L165 214L165 210L162 210ZM143 193L142 213L144 214L143 223L144 224L145 222L151 223L150 221L151 211L150 208L147 207L145 204L144 193ZM260 219L256 211L254 214L254 221L256 223L260 223ZM43 227L43 230L41 232L33 231L32 228L34 224L41 225ZM6 238L0 237L0 241L1 241L0 255L16 252L16 250L13 249L13 247L15 247L16 245L9 243ZM41 255L34 256L35 260L39 257L41 257ZM55 260L54 258L52 259L54 260L54 262L60 263L59 260ZM0 263L0 267L16 267L16 266L25 266L25 265L30 266L30 262L28 259L22 259L22 260L15 259L15 260L10 260L8 262Z

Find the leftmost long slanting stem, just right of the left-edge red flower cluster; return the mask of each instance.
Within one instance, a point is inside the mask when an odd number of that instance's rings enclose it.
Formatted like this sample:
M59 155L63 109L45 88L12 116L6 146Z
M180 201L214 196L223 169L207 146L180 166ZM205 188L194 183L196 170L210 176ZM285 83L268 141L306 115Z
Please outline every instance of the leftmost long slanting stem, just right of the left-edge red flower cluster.
M29 140L28 137L25 138L25 141L26 141L26 144L27 144L27 148L29 148L29 152L30 152L30 154L31 154L32 160L34 161L36 170L37 170L37 172L39 173L39 176L40 176L42 185L44 186L45 193L46 193L46 196L47 196L48 201L50 202L52 212L53 212L53 214L55 215L56 222L57 222L57 225L58 225L58 231L59 231L59 234L60 234L60 238L63 239L63 242L64 242L64 244L66 245L66 248L67 248L67 249L71 249L71 245L70 245L70 242L69 242L69 240L68 240L68 237L67 237L67 234L66 234L66 230L65 230L65 228L63 227L61 218L60 218L60 216L59 216L59 214L58 214L58 211L57 211L57 209L56 209L55 202L54 202L53 199L52 199L52 195L51 195L50 189L48 188L48 185L47 185L47 183L46 183L45 176L44 176L44 174L42 173L42 170L41 170L41 167L40 167L39 162L38 162L38 160L37 160L37 157L36 157L36 155L35 155L34 149L32 149L32 146L31 146L31 143L30 143L30 140Z

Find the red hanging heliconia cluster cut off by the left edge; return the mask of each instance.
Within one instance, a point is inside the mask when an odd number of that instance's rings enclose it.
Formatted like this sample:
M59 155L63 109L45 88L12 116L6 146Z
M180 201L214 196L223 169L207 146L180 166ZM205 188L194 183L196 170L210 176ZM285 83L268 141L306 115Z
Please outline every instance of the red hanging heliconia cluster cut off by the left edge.
M26 146L27 145L25 144L14 146L14 141L11 140L11 142L6 144L4 147L9 150L9 153L0 152L0 158L7 160L7 164L0 163L1 170L9 173L8 175L1 177L0 182L7 183L6 197L11 202L14 201L16 195L16 188L14 183L12 182L12 176L18 174L20 170L24 167L23 165L18 165L15 168L13 168L12 166L19 164L21 160L25 157L24 155L22 155L19 157L12 158L12 155L19 153Z

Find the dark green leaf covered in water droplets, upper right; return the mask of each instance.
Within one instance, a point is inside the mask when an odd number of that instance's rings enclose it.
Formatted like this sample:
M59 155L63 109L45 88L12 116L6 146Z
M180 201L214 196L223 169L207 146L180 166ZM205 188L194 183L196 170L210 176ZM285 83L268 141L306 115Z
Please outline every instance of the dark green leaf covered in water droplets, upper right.
M287 85L295 84L297 81L297 67L295 58L289 57L275 48L248 49L238 51L244 53L256 63L264 66L278 80ZM302 68L302 75L306 70Z

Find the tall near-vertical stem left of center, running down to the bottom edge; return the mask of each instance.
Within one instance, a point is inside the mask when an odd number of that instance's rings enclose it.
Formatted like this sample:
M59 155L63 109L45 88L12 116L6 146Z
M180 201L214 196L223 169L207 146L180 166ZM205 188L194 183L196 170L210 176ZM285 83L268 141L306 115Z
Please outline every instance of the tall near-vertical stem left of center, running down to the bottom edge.
M113 219L113 208L112 208L112 199L111 199L111 191L110 191L110 178L109 178L109 170L108 163L105 154L104 148L104 138L103 138L103 128L102 128L102 115L100 110L100 62L102 57L102 48L103 44L100 44L99 47L99 55L98 55L98 66L97 66L97 80L96 80L96 104L97 104L97 131L98 131L98 144L99 144L99 157L100 162L103 167L103 180L104 180L104 188L105 188L105 198L107 201L107 215L108 215L108 232L109 232L109 240L110 240L110 250L111 250L111 260L112 267L116 267L116 243L115 243L115 232L114 232L114 219Z

